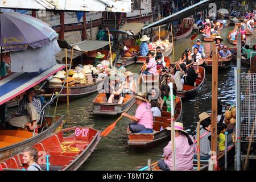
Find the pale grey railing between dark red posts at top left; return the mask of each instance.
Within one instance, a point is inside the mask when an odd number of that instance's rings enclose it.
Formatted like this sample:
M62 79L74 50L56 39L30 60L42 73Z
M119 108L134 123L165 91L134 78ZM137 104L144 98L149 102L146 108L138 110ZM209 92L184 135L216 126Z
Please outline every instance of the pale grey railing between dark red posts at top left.
M27 11L27 15L32 15L31 11ZM82 23L83 19L81 18L80 21L77 20L77 16L75 12L65 12L65 24L74 24L74 23ZM90 19L97 20L101 19L102 12L98 13L86 13L86 22L89 22ZM53 13L52 11L37 11L36 18L42 20L43 22L49 24L51 27L60 26L60 15L58 13Z

